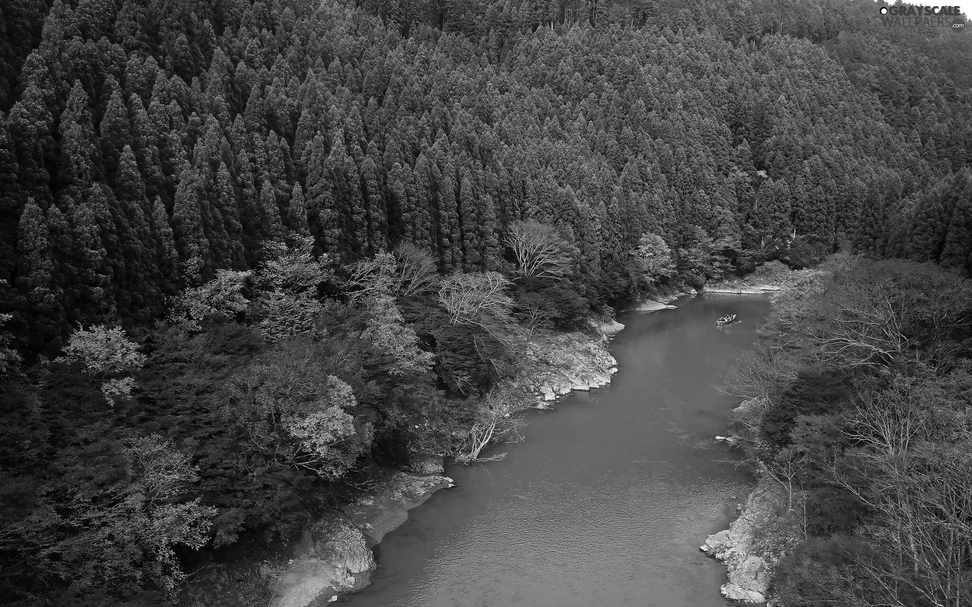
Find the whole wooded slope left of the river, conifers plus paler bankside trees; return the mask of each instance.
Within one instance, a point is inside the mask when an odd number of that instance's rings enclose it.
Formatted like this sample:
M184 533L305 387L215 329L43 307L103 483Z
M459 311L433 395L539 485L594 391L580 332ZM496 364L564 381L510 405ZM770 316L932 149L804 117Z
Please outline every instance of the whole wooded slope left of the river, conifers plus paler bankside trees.
M449 453L523 327L835 250L968 272L972 36L877 6L4 3L4 600L172 595Z

